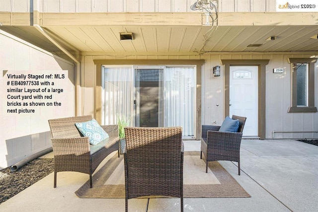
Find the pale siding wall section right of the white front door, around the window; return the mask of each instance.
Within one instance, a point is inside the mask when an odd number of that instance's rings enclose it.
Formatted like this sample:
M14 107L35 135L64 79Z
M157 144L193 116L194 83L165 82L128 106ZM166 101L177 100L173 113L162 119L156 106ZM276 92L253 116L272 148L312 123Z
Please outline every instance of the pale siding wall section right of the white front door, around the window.
M266 78L266 137L272 131L318 131L318 113L287 113L291 106L291 64L288 58L309 58L312 55L286 54L271 56ZM318 64L315 65L315 106L318 107ZM273 74L283 68L283 74ZM318 138L318 133L275 133L274 138Z

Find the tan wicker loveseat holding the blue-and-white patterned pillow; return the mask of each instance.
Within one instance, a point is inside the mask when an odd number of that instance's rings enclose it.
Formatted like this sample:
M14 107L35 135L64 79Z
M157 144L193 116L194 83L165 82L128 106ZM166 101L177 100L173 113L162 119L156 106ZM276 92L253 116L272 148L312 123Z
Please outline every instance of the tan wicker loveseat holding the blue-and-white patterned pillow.
M91 115L49 120L54 153L54 188L56 188L57 172L76 171L89 174L92 188L92 174L104 158L118 151L118 125L101 126L109 138L97 145L90 145L88 137L81 137L75 123L87 122Z

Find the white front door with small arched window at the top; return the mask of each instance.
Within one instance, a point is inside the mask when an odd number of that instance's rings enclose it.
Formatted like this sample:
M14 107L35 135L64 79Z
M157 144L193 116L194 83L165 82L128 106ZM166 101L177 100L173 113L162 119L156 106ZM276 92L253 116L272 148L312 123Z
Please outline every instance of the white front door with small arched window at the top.
M258 67L230 66L230 117L246 117L243 136L258 136Z

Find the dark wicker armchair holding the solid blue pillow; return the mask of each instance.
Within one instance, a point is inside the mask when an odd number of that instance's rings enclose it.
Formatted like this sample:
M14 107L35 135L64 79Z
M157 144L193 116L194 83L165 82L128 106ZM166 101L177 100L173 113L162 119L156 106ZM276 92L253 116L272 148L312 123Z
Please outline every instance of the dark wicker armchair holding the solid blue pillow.
M238 162L240 175L239 149L246 117L233 115L232 119L239 119L238 133L219 132L220 126L202 125L201 159L203 153L206 172L208 172L208 161L230 160Z

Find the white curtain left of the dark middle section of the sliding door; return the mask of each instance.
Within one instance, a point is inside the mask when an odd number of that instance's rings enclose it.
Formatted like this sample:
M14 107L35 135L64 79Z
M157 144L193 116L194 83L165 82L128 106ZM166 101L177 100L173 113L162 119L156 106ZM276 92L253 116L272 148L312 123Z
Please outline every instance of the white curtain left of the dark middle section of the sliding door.
M117 124L118 117L131 120L133 114L132 68L104 69L104 124Z

